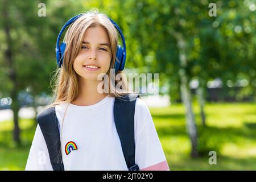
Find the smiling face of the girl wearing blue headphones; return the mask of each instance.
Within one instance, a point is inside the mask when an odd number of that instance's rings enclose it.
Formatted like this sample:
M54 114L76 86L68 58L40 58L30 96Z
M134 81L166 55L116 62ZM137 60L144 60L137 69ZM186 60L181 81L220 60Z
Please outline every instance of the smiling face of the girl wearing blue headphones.
M85 31L73 68L81 78L97 80L98 74L108 72L111 58L112 52L106 30L101 26L89 27Z

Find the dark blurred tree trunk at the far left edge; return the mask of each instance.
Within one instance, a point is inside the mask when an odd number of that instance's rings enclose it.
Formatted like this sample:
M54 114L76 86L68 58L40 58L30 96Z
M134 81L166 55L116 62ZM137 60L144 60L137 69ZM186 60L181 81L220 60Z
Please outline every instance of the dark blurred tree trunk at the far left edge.
M2 18L3 18L3 27L5 28L5 35L6 35L6 42L7 42L7 48L5 51L5 60L6 64L10 68L8 76L13 83L13 88L11 89L11 99L13 100L11 104L11 109L13 110L14 113L14 141L16 143L20 143L20 138L19 138L19 125L18 125L18 111L19 111L19 104L18 104L18 90L16 88L17 86L17 81L16 81L16 72L15 72L15 67L14 67L14 61L13 61L13 51L12 51L12 40L10 36L10 18L9 18L9 11L7 7L8 1L3 1L3 7L6 7L2 11Z

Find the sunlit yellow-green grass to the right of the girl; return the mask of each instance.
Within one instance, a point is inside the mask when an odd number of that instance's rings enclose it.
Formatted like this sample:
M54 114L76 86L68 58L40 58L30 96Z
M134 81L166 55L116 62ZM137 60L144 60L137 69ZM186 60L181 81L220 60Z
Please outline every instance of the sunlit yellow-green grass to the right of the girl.
M191 159L191 143L185 128L185 108L173 105L150 108L164 154L172 170L256 169L256 105L207 104L207 127L201 126L200 109L194 104L203 156ZM209 148L209 150L207 150ZM208 152L216 150L217 165L210 165Z

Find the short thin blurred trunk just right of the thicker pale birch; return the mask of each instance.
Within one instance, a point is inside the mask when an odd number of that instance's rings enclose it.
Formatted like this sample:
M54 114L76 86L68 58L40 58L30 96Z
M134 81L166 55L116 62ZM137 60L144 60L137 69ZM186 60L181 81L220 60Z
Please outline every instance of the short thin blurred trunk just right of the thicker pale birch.
M204 104L204 84L201 78L199 79L199 88L197 88L196 93L197 93L197 98L199 100L199 105L200 105L200 115L201 115L202 125L206 126L205 112L204 112L204 105L205 105Z

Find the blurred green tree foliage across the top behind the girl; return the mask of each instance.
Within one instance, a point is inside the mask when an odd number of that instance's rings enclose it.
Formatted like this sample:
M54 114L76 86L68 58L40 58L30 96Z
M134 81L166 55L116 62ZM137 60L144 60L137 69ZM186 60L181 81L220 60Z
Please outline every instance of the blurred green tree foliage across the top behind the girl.
M249 89L240 97L256 92L256 17L249 10L249 1L218 1L217 17L208 15L208 0L44 1L46 17L37 15L39 1L7 2L19 90L32 86L34 95L51 92L49 75L56 69L55 41L60 28L72 16L97 7L114 19L125 35L126 68L160 73L160 85L168 83L175 100L180 97L175 32L184 36L189 80L204 78L207 82L220 77L226 84L245 78ZM0 26L5 26L3 19ZM10 68L3 57L6 39L2 28L0 40L1 92L7 96L12 85L6 77Z

